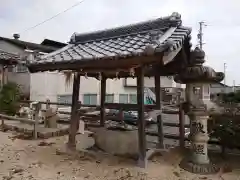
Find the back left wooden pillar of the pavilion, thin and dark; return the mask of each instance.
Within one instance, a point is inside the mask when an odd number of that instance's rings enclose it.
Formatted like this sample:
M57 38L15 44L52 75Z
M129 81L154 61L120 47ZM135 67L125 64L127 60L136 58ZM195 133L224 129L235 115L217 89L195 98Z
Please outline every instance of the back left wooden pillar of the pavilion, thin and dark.
M100 98L100 126L105 125L106 120L106 109L105 109L105 99L106 99L106 83L107 79L105 76L101 79L101 98Z

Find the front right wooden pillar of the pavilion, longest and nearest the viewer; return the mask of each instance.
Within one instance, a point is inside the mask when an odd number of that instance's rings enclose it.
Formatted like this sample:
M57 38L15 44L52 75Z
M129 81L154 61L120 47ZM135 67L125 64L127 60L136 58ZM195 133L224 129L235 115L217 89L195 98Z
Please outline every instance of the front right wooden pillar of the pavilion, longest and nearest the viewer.
M146 159L146 134L145 134L145 119L144 119L144 68L138 68L137 76L137 106L138 106L138 146L139 159L138 165L145 168L147 165Z

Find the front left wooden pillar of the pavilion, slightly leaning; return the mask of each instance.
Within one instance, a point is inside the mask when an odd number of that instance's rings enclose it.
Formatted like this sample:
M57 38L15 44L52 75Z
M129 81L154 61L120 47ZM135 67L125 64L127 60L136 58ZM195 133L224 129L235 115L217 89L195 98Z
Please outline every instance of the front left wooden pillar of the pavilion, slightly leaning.
M73 92L72 92L72 107L71 107L71 119L70 119L70 128L69 128L69 138L67 146L70 150L76 149L76 134L79 128L79 90L80 90L80 74L74 73L73 79Z

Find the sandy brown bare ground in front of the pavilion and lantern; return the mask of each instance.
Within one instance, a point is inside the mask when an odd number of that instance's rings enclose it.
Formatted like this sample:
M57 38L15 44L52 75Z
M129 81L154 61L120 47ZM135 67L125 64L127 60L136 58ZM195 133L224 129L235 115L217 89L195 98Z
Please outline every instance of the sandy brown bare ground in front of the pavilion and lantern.
M64 147L67 136L42 140L20 140L12 132L0 132L0 179L2 180L197 180L240 179L237 168L221 176L199 176L178 167L182 153L173 149L149 161L146 169L136 167L136 162L103 153L79 152L67 156L58 151ZM78 135L80 148L93 142L86 135ZM235 158L236 159L236 158ZM235 160L239 162L239 160Z

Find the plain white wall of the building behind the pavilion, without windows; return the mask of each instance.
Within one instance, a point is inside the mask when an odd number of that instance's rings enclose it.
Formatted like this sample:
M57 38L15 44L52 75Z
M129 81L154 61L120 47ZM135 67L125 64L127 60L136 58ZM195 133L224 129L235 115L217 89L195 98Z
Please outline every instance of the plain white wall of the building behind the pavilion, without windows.
M165 79L165 77L163 77ZM31 74L30 99L45 101L49 98L51 101L57 102L58 95L71 95L72 82L65 84L65 77L58 72L41 72ZM136 79L135 79L136 80ZM172 81L162 81L164 87L174 86ZM164 83L166 82L166 84ZM153 78L145 78L146 87L154 87ZM114 94L114 102L119 102L119 94L137 94L136 87L125 87L124 79L107 80L107 94ZM79 100L83 101L84 94L97 94L98 104L100 103L100 81L95 78L81 77Z

